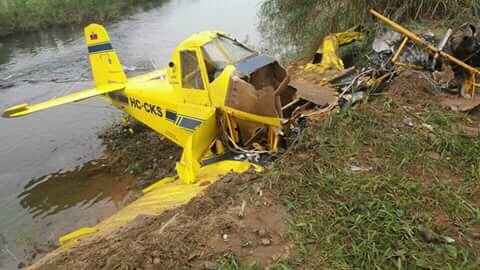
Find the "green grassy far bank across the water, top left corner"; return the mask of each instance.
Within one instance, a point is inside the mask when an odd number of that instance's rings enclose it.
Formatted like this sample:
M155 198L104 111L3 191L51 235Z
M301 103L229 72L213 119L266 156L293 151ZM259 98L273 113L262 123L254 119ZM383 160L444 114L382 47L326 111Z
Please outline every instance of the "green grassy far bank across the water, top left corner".
M0 37L49 26L105 22L165 0L0 0Z

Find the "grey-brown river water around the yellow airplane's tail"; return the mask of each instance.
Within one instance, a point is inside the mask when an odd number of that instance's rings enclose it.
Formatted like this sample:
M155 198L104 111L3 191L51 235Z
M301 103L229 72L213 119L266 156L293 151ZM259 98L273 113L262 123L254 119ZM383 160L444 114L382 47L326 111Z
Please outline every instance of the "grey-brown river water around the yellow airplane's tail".
M163 66L189 34L222 30L258 46L259 0L171 0L108 25L122 64ZM0 109L90 87L81 27L0 40ZM0 269L125 206L133 177L99 165L97 133L119 112L99 99L0 118Z

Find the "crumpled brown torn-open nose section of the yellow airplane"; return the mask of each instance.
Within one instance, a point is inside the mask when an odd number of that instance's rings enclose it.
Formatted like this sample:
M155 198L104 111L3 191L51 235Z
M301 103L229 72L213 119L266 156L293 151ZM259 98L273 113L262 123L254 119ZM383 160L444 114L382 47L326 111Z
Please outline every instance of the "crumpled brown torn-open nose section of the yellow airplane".
M255 116L283 119L283 107L291 103L296 94L296 89L288 85L287 70L278 62L272 62L249 71L231 78L225 106ZM268 123L257 119L227 113L226 121L220 124L225 145L240 152L277 151L281 129L269 128Z

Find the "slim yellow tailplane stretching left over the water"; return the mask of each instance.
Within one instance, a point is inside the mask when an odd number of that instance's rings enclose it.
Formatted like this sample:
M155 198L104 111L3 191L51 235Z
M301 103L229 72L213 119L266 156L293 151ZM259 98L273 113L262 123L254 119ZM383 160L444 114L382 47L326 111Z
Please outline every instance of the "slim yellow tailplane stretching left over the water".
M28 105L27 103L23 103L23 104L6 109L3 112L2 116L5 118L25 116L25 115L38 112L41 110L45 110L48 108L56 107L56 106L71 103L71 102L78 102L84 99L107 94L110 92L120 91L123 89L125 89L125 84L123 83L106 84L97 88L87 89L87 90L76 92L67 96L53 98L45 102L41 102L34 105Z

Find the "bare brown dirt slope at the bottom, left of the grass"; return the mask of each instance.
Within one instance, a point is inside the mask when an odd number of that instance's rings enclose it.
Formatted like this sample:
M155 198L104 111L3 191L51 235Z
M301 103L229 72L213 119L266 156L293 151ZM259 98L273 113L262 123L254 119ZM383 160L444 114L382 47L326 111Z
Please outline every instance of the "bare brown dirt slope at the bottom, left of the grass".
M228 254L266 267L287 258L293 246L286 208L256 179L254 173L226 176L184 207L139 217L35 269L218 269Z

